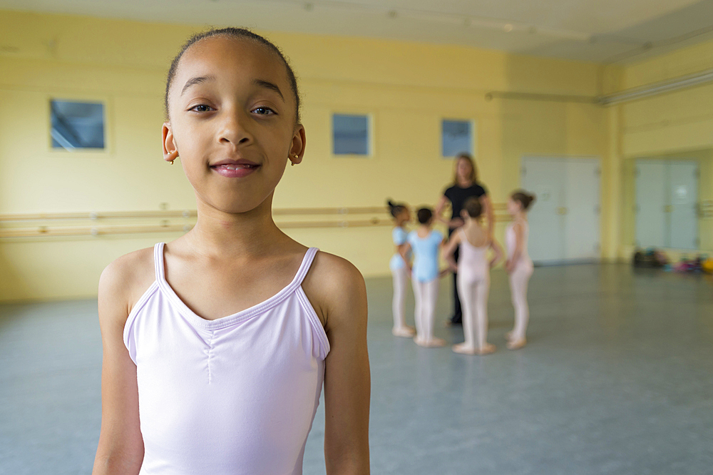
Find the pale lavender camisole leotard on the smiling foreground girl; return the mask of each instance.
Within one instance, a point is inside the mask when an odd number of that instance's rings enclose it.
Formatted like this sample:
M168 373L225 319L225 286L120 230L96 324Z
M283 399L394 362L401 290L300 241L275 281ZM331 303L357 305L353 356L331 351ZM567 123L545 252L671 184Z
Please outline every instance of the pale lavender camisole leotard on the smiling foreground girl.
M136 364L145 454L140 475L299 475L329 340L294 280L260 304L205 320L165 280L131 310L124 342Z

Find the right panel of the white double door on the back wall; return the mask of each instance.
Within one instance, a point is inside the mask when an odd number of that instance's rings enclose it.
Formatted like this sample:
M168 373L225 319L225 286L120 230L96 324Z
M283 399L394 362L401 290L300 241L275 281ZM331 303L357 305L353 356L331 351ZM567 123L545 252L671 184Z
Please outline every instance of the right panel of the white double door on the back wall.
M599 160L565 160L565 259L600 257Z

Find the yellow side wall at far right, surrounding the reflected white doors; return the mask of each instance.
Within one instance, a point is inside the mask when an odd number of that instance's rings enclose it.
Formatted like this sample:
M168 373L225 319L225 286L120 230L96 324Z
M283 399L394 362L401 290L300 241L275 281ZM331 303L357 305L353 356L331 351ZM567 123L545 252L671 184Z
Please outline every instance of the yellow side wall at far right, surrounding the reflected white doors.
M623 70L622 86L632 88L713 67L713 41L682 48ZM713 200L713 84L662 94L612 108L620 114L622 234L620 252L635 243L636 158L671 158L699 163L699 200ZM713 252L713 219L699 220L700 248ZM676 256L677 252L672 252Z

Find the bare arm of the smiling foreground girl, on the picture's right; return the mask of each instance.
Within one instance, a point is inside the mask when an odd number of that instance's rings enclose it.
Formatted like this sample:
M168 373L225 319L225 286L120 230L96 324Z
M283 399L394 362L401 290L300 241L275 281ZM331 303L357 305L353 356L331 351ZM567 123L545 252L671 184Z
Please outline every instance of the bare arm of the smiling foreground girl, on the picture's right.
M367 475L371 379L364 278L347 260L324 252L315 264L306 290L326 318L329 337L324 370L327 475Z

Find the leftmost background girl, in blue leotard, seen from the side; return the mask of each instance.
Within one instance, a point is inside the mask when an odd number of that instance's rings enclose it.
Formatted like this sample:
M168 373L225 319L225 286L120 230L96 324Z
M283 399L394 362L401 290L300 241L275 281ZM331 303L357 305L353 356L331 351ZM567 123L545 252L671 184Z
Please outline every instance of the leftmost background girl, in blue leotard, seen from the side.
M396 246L396 253L391 256L391 261L389 262L389 269L391 269L391 275L394 277L394 300L391 304L394 312L394 328L391 329L391 333L396 337L411 338L415 333L414 327L406 325L406 319L404 318L404 300L406 300L409 271L406 269L404 258L399 253L401 246L406 244L408 233L406 233L404 225L411 221L411 211L403 203L397 205L389 200L388 204L389 213L394 218L395 224L394 230L391 232L391 238Z

